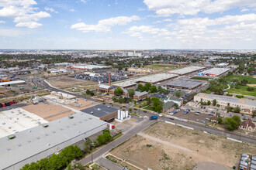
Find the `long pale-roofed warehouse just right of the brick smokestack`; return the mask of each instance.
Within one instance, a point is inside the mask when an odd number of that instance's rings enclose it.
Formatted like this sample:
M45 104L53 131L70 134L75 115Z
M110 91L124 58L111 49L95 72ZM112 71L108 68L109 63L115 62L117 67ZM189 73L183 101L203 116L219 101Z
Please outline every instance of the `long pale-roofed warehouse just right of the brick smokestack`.
M140 77L134 80L127 80L121 83L115 83L113 87L123 87L124 89L136 88L139 83L164 83L177 77L175 74L170 73L157 73L150 76Z

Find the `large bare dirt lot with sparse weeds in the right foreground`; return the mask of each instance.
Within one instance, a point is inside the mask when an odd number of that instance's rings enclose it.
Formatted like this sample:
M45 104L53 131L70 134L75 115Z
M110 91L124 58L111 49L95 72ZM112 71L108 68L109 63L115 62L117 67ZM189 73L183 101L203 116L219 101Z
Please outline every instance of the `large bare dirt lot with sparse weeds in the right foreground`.
M242 153L252 155L256 147L163 122L111 151L140 168L181 170L204 170L205 165L230 169L237 165Z

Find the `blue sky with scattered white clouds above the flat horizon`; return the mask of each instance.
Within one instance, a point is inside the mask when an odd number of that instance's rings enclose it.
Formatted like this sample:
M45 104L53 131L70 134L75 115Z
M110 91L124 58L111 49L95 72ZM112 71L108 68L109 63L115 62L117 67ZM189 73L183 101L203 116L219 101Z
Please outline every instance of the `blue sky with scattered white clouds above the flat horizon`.
M256 49L256 1L0 0L0 49Z

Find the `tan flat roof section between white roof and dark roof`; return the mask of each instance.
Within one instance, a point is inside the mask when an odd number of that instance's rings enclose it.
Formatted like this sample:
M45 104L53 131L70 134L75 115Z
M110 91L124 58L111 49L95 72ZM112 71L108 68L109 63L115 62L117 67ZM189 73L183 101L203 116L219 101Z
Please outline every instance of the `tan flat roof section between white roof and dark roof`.
M22 107L22 109L29 111L30 113L36 114L39 117L43 117L43 119L47 121L54 121L60 119L62 117L67 117L70 114L74 114L73 111L57 106L50 103L40 103L40 104L30 104L26 107Z

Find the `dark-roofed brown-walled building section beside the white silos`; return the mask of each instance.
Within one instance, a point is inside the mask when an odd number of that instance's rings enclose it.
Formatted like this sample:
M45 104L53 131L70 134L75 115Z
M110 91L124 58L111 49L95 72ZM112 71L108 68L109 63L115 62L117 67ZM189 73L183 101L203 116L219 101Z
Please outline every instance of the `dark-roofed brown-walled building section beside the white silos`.
M105 104L99 104L81 111L94 117L98 117L102 121L112 121L116 118L117 110L118 109L116 109L115 107L109 107Z

